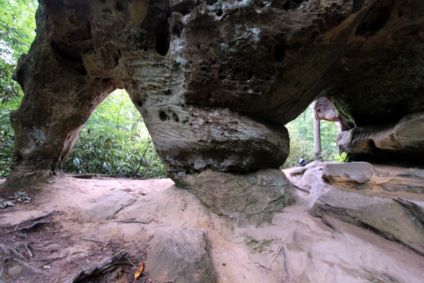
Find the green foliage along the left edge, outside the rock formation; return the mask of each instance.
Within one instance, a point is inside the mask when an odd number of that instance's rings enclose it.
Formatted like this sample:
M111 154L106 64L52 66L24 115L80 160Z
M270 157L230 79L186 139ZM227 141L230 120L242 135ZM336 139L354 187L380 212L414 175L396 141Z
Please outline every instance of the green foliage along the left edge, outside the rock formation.
M9 115L23 95L12 74L34 40L36 8L35 0L0 0L0 177L8 175L13 162L15 134Z

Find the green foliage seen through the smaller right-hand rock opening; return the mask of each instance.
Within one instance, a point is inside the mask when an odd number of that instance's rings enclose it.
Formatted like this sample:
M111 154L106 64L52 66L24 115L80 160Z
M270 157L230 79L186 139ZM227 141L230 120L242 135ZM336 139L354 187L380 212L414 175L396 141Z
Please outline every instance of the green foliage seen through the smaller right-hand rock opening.
M300 158L307 163L315 160L313 109L310 105L295 120L285 125L290 135L290 154L282 168L296 166ZM338 128L334 122L320 121L322 161L333 161L337 153L336 137Z

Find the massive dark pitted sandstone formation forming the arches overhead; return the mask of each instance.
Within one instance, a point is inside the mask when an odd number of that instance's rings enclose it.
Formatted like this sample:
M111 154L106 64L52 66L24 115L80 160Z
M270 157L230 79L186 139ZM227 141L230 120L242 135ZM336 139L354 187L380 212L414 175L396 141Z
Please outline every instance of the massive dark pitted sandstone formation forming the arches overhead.
M115 88L175 180L278 168L283 125L320 96L358 127L397 122L424 110L423 15L420 0L42 0L8 183L60 170Z

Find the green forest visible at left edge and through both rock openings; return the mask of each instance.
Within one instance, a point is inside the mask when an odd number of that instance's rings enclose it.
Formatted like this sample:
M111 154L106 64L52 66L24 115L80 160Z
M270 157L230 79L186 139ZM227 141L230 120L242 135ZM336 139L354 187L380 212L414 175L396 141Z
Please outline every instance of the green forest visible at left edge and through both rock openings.
M28 53L35 37L35 0L0 0L0 177L6 177L14 158L14 132L10 112L18 109L23 92L11 79L20 54ZM310 105L286 127L290 156L282 168L300 158L315 160L313 110ZM322 159L337 153L334 122L321 121ZM65 173L96 173L124 178L165 178L163 163L155 152L143 118L123 90L114 91L93 112L81 131Z

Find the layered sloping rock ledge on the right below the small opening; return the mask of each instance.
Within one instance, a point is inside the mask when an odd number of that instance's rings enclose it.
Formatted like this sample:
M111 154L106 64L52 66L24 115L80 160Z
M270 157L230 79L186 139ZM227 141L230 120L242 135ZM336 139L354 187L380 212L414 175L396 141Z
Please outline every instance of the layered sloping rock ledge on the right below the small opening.
M293 174L291 181L310 191L307 209L312 208L312 215L370 229L424 255L424 198L417 190L403 189L424 185L420 174L418 168L325 162L311 166L302 177ZM398 190L387 190L393 184Z

